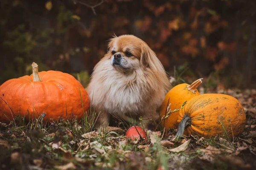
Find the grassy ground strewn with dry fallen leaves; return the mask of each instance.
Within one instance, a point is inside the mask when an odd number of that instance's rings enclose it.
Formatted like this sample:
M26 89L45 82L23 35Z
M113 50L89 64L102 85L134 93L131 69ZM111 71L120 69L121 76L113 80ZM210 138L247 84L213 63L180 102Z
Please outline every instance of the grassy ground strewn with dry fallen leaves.
M93 131L93 118L47 125L43 118L33 122L17 118L9 125L0 123L0 169L256 169L256 90L223 90L208 93L235 96L246 111L244 133L234 139L185 136L172 142L175 130L159 127L147 132L146 141L131 142L125 139L131 125L119 119L115 119L118 127L99 134Z

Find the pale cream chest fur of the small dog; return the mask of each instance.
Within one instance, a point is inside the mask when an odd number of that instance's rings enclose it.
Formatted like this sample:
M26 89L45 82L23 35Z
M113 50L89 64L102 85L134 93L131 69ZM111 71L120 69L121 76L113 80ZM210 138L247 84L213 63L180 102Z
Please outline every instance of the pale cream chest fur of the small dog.
M116 71L109 71L105 77L102 77L101 85L98 87L105 88L101 95L102 99L95 101L96 105L101 105L102 109L112 114L138 114L141 112L143 105L145 105L145 96L142 88L138 85L138 80L131 79L131 77L125 77L122 74L118 74ZM97 89L94 89L96 91ZM97 96L96 99L99 99Z

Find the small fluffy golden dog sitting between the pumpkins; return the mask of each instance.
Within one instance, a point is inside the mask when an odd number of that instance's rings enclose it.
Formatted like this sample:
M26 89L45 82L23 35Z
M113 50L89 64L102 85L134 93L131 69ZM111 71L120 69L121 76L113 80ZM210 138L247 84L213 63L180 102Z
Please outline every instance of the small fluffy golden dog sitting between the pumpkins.
M111 114L142 116L144 126L159 118L157 109L170 87L163 65L148 45L133 35L113 37L96 64L87 92L99 113L96 128L107 127Z

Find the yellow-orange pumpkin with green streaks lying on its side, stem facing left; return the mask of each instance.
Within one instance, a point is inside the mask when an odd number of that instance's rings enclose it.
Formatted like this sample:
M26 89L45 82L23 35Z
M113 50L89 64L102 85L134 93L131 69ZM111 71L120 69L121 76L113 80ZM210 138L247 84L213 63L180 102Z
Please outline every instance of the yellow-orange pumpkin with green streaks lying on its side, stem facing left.
M176 136L238 136L244 131L244 108L233 96L201 94L186 102L180 110Z

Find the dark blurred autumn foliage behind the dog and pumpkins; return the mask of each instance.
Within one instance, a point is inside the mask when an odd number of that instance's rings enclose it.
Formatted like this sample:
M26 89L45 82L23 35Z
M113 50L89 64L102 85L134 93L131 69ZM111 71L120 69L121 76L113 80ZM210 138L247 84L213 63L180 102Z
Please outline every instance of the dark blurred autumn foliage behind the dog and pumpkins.
M87 84L107 40L140 37L172 76L255 87L255 0L1 0L0 84L39 70Z

